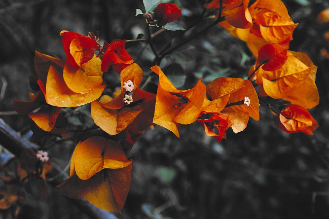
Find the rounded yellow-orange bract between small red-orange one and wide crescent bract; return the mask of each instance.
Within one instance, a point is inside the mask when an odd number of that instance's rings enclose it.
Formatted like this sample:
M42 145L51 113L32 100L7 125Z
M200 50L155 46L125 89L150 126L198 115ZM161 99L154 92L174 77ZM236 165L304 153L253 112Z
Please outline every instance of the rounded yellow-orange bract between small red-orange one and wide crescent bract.
M68 62L63 69L63 79L67 87L75 93L85 94L98 88L103 83L101 60L93 55L93 58L75 70Z

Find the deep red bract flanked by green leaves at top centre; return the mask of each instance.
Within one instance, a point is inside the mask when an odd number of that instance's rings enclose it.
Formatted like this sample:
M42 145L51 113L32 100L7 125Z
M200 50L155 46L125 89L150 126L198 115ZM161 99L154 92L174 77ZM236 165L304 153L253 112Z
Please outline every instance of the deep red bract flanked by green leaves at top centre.
M177 5L171 3L161 3L154 12L154 19L158 20L157 25L163 27L167 23L177 20L182 14Z

